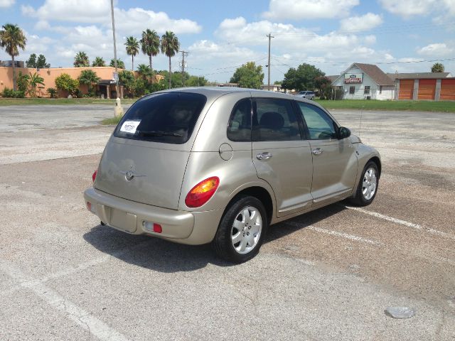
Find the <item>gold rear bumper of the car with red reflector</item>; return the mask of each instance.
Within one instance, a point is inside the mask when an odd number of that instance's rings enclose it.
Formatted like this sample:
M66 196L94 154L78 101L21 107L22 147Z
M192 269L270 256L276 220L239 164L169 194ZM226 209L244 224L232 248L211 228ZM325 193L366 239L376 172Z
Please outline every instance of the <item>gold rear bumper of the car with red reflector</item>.
M109 227L129 234L149 234L182 244L211 242L223 215L221 210L169 210L122 199L95 188L85 190L84 200L87 209ZM154 224L159 224L162 232L155 232Z

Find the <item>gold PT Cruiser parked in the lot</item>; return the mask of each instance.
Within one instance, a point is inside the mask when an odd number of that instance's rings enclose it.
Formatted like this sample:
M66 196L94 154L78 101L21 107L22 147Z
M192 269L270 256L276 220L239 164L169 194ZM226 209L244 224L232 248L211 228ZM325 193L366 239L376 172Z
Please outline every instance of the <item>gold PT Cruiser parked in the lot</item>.
M223 259L254 257L267 228L378 191L378 151L314 101L250 89L155 92L130 107L85 190L102 224Z

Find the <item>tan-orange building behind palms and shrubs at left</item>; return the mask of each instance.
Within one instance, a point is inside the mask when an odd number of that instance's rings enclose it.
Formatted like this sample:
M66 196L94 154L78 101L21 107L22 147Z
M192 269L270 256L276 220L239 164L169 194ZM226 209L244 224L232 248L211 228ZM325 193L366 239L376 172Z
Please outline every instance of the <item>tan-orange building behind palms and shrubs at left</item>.
M38 75L44 79L44 87L38 87L37 95L38 97L49 97L47 92L48 88L55 87L55 78L67 73L73 79L79 77L82 70L93 70L96 72L97 76L101 78L100 82L96 85L97 92L100 92L105 98L115 98L117 94L115 92L115 82L113 79L113 74L115 72L114 67L49 67L45 69L35 69L28 67L16 67L16 77L19 72L22 72L24 75L33 74L38 72ZM122 69L119 69L122 71ZM0 92L4 90L5 87L9 89L13 88L13 68L12 67L0 67ZM82 94L87 94L88 89L87 85L80 85L79 87ZM119 87L120 97L123 97L123 87ZM59 92L59 97L67 97L68 92Z

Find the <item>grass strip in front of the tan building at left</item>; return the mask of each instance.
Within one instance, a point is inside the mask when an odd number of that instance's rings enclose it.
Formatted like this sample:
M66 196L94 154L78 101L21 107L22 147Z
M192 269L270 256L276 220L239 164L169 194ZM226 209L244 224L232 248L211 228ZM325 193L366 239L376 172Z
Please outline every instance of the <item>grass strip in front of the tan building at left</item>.
M122 104L132 104L136 99L122 99ZM106 104L115 105L115 99L100 98L0 98L0 106L9 105L68 105L68 104Z

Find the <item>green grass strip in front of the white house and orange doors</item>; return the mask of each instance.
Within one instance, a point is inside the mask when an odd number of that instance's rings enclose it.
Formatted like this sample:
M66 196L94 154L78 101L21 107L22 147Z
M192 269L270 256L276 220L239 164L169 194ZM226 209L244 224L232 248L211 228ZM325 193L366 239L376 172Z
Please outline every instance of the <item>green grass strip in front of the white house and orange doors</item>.
M455 113L455 102L453 101L378 101L375 99L343 99L341 101L328 101L316 99L326 109L363 109L363 110L396 110L413 112L453 112Z

